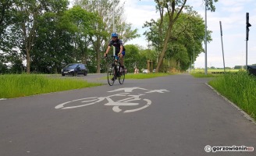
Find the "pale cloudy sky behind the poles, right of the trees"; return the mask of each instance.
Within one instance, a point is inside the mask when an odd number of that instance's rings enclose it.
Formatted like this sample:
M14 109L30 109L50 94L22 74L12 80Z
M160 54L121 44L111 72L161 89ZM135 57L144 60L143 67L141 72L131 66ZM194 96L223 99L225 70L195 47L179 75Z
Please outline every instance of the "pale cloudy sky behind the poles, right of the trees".
M192 0L195 1L195 0ZM192 3L193 4L193 3ZM248 64L256 62L256 2L253 0L219 1L216 11L208 12L208 29L212 30L213 41L208 44L208 66L221 67L222 48L219 21L222 21L223 44L226 66L245 65L245 14L250 12L250 35L248 41ZM204 17L204 8L194 7ZM204 53L195 62L196 67L204 67Z

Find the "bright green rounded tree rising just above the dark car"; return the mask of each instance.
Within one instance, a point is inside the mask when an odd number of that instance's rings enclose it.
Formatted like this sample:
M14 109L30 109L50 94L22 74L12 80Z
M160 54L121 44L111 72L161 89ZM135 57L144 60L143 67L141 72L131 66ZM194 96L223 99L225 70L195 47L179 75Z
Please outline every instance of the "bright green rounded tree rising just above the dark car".
M74 52L81 62L87 64L88 51L93 45L93 39L98 37L98 29L101 36L106 37L107 32L104 30L104 24L98 14L87 12L79 5L74 6L66 12L66 25L73 27L72 44Z

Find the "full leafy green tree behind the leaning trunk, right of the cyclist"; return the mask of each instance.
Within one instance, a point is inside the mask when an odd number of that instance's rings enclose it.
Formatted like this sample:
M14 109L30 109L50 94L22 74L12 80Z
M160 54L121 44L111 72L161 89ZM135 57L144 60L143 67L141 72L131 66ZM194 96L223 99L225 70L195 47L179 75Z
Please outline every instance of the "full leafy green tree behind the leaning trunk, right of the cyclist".
M175 12L176 14L176 12ZM149 41L157 48L161 49L164 38L158 34L158 26L160 20L145 23L145 27L149 30L144 34ZM162 34L165 34L169 28L169 16L165 14L162 19ZM202 42L204 41L204 20L191 7L187 6L187 12L181 12L179 19L173 23L172 35L169 37L169 42L166 45L166 58L172 58L176 61L176 69L187 69L190 65L190 57L195 57L204 51ZM212 41L212 31L208 30L208 41Z

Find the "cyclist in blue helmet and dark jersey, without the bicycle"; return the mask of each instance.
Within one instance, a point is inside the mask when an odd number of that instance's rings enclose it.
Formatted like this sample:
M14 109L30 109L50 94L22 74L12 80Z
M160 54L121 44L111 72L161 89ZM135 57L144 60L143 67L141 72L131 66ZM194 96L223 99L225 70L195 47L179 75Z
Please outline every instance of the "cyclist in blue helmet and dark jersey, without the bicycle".
M124 69L123 57L124 57L124 55L126 55L126 51L123 46L123 41L119 40L118 34L116 34L116 33L112 33L111 37L112 37L112 40L109 41L108 48L104 55L106 56L108 54L108 51L110 50L111 46L114 46L116 48L115 55L118 56L116 59L120 58L121 68Z

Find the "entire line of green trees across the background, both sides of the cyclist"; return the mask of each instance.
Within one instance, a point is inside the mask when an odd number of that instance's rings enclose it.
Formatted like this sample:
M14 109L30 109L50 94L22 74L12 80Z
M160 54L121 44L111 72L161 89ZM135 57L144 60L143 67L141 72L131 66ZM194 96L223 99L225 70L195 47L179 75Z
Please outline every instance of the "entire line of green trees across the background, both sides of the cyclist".
M197 57L204 51L204 20L186 2L155 0L159 19L144 24L151 48L125 45L129 71L146 69L148 60L157 71L168 71L167 64L185 70L194 52ZM211 11L214 2L208 0ZM140 36L124 20L123 6L120 0L76 0L70 8L68 0L2 0L0 73L59 73L72 62L83 62L91 73L104 72L101 58L110 34L116 31L124 43Z

